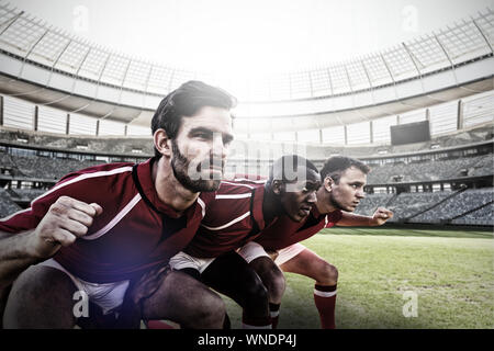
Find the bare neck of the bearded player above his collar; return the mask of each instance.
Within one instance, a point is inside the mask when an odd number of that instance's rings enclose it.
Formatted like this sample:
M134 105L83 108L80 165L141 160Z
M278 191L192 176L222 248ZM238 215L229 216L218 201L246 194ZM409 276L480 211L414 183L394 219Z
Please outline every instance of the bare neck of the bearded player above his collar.
M190 207L199 196L175 178L170 162L164 156L153 165L153 183L159 200L177 212Z

